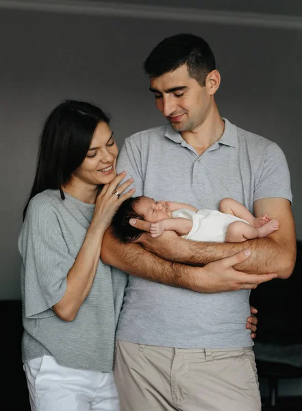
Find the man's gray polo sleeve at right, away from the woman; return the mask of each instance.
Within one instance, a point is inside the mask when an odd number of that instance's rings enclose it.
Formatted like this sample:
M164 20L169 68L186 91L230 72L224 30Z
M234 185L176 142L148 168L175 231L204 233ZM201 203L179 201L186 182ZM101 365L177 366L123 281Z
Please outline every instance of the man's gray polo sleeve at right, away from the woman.
M262 169L255 181L254 201L268 197L285 198L292 202L288 163L275 142L268 145Z

